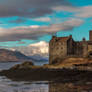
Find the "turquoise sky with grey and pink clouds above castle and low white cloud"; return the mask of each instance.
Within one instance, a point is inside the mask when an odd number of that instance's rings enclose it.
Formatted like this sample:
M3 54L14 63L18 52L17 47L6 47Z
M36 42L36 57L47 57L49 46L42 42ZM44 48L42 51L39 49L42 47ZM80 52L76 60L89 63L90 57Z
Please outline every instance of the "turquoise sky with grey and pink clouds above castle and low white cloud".
M89 40L92 0L0 0L0 48L26 47L52 35Z

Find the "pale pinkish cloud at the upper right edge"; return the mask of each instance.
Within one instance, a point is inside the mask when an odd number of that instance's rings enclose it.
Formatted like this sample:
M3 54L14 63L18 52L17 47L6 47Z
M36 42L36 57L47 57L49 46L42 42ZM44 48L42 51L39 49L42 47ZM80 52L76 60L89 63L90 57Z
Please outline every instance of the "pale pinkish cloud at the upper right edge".
M53 10L73 12L75 17L80 18L92 17L92 6L84 6L84 7L57 6L53 7Z

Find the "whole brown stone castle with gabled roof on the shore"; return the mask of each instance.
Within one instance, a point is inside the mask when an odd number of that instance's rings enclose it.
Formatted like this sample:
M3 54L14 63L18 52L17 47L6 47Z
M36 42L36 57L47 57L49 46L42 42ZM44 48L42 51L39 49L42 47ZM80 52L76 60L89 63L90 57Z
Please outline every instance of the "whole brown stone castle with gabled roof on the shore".
M72 35L68 37L53 36L49 42L50 64L66 57L92 57L92 31L89 40L74 41Z

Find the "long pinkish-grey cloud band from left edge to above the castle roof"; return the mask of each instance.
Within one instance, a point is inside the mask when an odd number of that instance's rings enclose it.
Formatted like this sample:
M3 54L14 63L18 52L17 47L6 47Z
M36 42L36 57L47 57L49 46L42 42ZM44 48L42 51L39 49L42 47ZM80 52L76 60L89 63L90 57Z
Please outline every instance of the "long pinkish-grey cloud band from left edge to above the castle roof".
M21 39L37 40L41 36L58 31L69 31L83 24L83 20L70 18L69 20L50 26L21 26L14 28L0 28L0 41L18 41Z

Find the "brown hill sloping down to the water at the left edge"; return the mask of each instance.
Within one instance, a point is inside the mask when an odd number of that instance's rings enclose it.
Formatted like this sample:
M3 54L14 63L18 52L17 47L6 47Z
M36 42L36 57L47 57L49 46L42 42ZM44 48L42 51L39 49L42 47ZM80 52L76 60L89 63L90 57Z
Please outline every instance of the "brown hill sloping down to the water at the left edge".
M0 49L0 62L6 61L23 61L28 60L29 57L19 51L11 51L8 49Z

